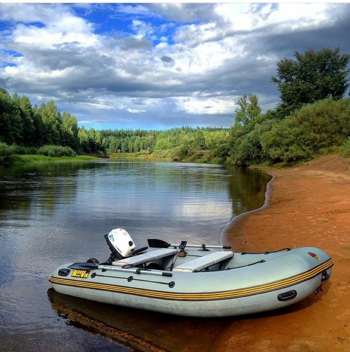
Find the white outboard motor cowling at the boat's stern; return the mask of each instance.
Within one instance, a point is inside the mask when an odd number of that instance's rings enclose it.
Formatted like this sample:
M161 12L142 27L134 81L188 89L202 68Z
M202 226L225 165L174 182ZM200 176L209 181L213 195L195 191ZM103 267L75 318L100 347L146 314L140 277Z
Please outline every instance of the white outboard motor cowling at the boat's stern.
M115 252L115 256L118 259L130 257L133 254L135 243L126 230L121 228L113 229L105 238L110 250Z

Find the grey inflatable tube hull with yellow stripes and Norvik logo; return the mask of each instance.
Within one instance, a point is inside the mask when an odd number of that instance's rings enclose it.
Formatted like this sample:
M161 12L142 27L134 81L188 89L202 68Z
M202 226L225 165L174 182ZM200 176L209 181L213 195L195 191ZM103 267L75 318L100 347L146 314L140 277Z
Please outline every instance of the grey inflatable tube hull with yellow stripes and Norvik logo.
M198 251L193 252L198 255ZM315 253L317 258L309 253ZM97 302L194 317L251 314L295 304L329 279L333 265L326 252L314 247L282 253L235 253L226 270L194 273L101 268L74 273L76 269L69 269L72 264L61 265L49 275L56 291ZM67 269L67 276L62 276ZM159 275L154 275L156 272Z

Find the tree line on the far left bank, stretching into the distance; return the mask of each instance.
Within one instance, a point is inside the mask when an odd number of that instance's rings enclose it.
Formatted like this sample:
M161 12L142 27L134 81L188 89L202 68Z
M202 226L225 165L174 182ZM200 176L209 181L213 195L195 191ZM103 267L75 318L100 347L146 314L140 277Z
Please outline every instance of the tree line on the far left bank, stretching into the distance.
M32 106L27 96L10 96L0 88L0 154L1 150L2 154L49 156L138 153L182 160L195 152L202 151L199 154L204 155L218 149L228 134L229 129L199 127L167 131L87 130L78 127L77 118L69 112L61 113L53 100L40 107Z

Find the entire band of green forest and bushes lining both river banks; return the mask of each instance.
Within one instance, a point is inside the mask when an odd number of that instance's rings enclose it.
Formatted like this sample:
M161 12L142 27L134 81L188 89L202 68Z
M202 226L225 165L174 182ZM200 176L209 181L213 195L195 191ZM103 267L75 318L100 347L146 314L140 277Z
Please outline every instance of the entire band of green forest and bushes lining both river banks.
M290 163L318 155L350 153L349 54L340 48L295 52L271 77L281 102L262 113L259 98L244 94L225 128L164 131L87 130L53 100L40 107L0 88L0 162L13 154L100 157L131 153L175 161L250 166Z

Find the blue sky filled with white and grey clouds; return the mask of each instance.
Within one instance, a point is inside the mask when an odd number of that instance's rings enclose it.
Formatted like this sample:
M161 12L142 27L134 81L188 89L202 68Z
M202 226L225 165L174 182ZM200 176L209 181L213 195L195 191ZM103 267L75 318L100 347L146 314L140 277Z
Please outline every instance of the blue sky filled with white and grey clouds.
M0 87L87 129L230 127L277 62L350 53L350 3L0 3Z

